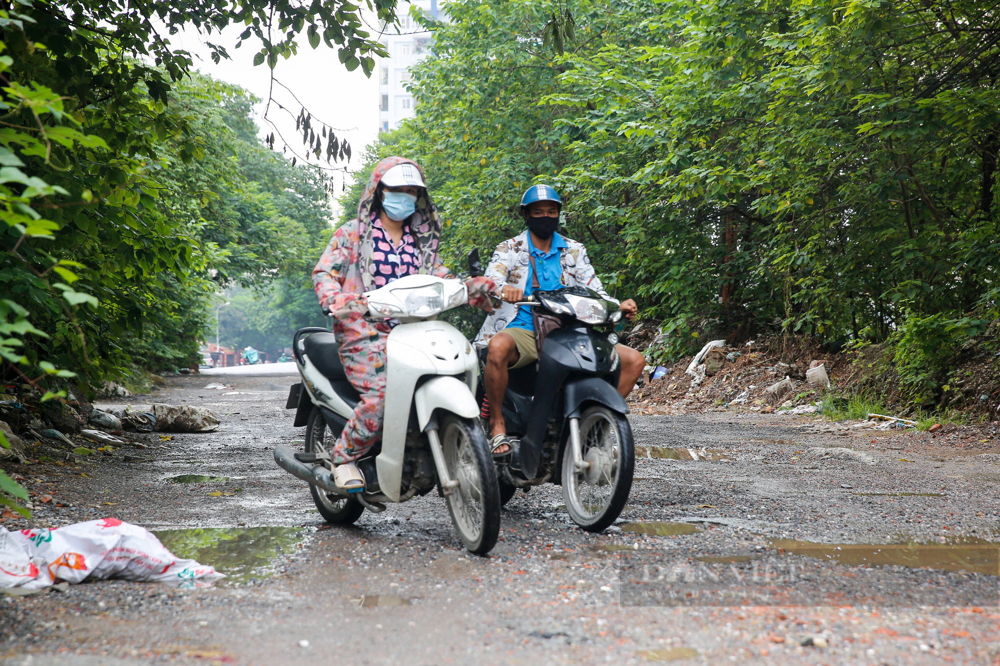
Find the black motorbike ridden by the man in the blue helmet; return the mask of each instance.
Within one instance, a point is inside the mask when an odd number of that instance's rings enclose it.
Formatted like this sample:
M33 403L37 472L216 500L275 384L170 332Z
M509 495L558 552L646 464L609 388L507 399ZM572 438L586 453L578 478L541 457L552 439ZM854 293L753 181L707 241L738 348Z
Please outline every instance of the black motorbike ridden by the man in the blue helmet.
M582 287L535 291L516 305L541 308L560 326L545 337L537 363L509 373L499 408L507 433L517 439L509 454L494 460L501 502L518 488L556 483L573 522L600 532L625 507L635 468L629 408L617 389L618 336L610 330L621 310ZM497 407L486 400L485 359L482 350L476 397L489 432L489 410Z

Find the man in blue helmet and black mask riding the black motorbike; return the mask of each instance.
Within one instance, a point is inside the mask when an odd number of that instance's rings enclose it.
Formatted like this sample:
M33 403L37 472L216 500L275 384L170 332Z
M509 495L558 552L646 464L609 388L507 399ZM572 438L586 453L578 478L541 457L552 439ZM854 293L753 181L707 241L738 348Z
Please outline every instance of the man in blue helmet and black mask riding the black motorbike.
M534 291L532 265L537 270L539 290L581 286L618 303L604 291L583 244L556 233L561 210L562 200L553 188L548 185L528 188L521 197L521 215L528 228L500 243L486 269L485 277L501 286L501 296L505 301L499 310L486 318L475 341L480 349L489 349L485 384L487 401L495 406L490 409L490 448L495 456L510 451L511 440L507 437L507 426L500 409L507 392L508 370L522 368L538 360L531 310L511 305L523 301L524 296ZM628 319L635 319L638 307L634 300L622 301L619 307ZM642 375L646 360L631 347L617 345L616 349L621 357L618 392L624 397Z

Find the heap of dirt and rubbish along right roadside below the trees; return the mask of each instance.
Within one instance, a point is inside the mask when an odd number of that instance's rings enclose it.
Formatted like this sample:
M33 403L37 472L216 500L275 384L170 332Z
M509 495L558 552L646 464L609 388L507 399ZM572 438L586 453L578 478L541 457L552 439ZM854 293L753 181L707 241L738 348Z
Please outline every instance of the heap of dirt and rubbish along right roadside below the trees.
M816 413L822 411L824 391L833 386L832 365L824 358L785 363L752 341L727 347L724 340L713 340L673 367L647 367L629 402L639 414Z

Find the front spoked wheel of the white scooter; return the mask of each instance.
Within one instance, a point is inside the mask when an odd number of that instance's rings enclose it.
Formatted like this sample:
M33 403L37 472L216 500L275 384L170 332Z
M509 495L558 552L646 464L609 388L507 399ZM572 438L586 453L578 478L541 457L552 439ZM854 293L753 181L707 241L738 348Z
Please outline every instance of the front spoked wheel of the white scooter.
M500 489L479 422L449 414L441 421L441 448L458 487L446 493L451 522L465 547L483 555L500 534Z

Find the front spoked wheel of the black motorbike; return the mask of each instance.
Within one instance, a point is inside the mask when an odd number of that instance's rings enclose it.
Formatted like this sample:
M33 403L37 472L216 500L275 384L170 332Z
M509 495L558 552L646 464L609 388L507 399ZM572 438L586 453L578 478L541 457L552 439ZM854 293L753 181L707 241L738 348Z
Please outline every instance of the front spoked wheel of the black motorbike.
M580 417L580 453L587 463L574 465L573 447L566 443L562 462L563 497L573 522L588 532L611 525L625 508L632 490L635 442L621 414L598 405Z

